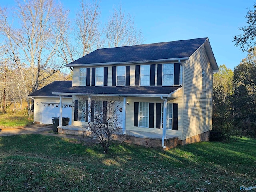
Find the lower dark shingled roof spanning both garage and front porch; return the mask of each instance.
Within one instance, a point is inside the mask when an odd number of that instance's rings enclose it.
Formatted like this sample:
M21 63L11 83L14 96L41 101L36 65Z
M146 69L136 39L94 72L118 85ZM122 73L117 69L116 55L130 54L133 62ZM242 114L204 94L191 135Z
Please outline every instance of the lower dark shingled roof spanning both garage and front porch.
M139 86L80 86L72 87L72 81L54 81L29 96L58 96L62 94L106 94L106 95L167 95L177 90L175 87L139 87Z

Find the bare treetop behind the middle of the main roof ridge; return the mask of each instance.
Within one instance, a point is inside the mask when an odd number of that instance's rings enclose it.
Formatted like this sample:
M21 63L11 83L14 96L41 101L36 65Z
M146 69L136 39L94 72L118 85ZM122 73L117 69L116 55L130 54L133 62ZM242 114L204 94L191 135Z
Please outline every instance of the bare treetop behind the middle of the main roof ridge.
M130 14L122 12L122 6L114 8L108 23L104 28L108 47L130 46L141 44L143 37L141 31L134 24Z

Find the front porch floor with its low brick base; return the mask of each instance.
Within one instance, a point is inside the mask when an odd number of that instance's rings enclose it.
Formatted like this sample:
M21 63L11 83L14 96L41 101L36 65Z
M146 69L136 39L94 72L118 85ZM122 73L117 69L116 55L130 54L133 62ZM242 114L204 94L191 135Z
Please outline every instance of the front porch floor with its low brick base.
M58 127L58 133L61 134L72 134L80 135L86 137L94 137L91 131L88 131L83 126L62 126ZM97 139L96 137L94 139ZM168 150L174 148L178 144L178 136L168 135L163 139L163 134L152 133L152 132L142 132L142 131L132 131L126 130L125 134L122 134L122 129L119 129L113 136L113 140L123 141L129 144L136 144L146 147L163 147Z

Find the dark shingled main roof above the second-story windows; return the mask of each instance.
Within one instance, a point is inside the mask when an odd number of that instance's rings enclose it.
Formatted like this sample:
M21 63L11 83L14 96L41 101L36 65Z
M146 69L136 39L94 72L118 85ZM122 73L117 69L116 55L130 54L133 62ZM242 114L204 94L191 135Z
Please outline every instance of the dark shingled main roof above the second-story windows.
M190 57L207 38L97 49L66 66Z

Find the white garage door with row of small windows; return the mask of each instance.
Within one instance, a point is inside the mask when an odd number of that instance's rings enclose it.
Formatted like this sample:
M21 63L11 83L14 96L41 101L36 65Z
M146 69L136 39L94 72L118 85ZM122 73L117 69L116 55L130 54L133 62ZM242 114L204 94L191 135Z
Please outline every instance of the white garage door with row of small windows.
M42 109L42 123L52 124L53 117L60 116L59 104L56 103L43 103ZM72 117L72 104L63 104L62 105L62 117L69 117L69 125L71 125Z

